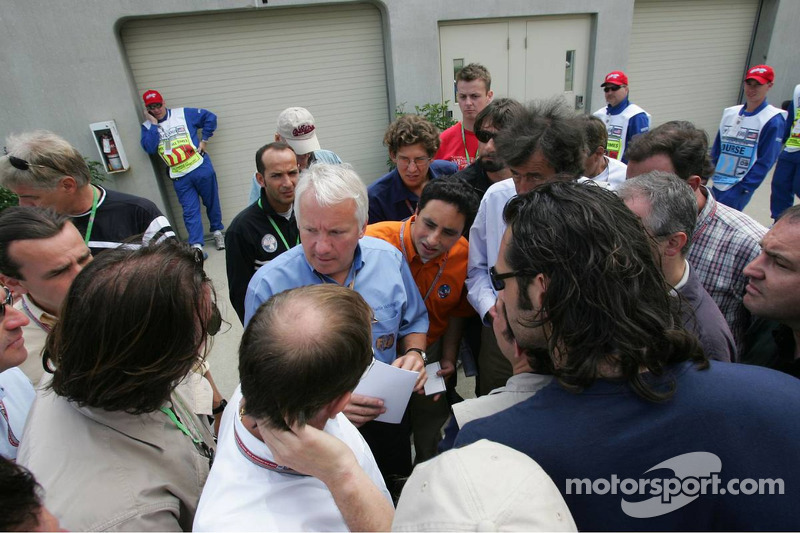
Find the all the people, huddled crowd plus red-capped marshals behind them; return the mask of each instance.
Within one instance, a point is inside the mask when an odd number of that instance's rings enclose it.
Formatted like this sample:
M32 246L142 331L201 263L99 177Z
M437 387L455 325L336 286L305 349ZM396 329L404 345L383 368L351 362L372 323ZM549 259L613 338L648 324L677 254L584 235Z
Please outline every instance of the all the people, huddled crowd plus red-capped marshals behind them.
M148 90L186 243L58 135L9 137L0 528L796 528L800 85L787 120L774 77L747 71L709 143L651 127L622 71L580 115L470 64L462 121L398 117L369 186L290 107L224 234L216 116ZM776 161L767 229L741 209ZM201 199L244 326L230 398ZM357 392L378 372L411 376L398 420Z

